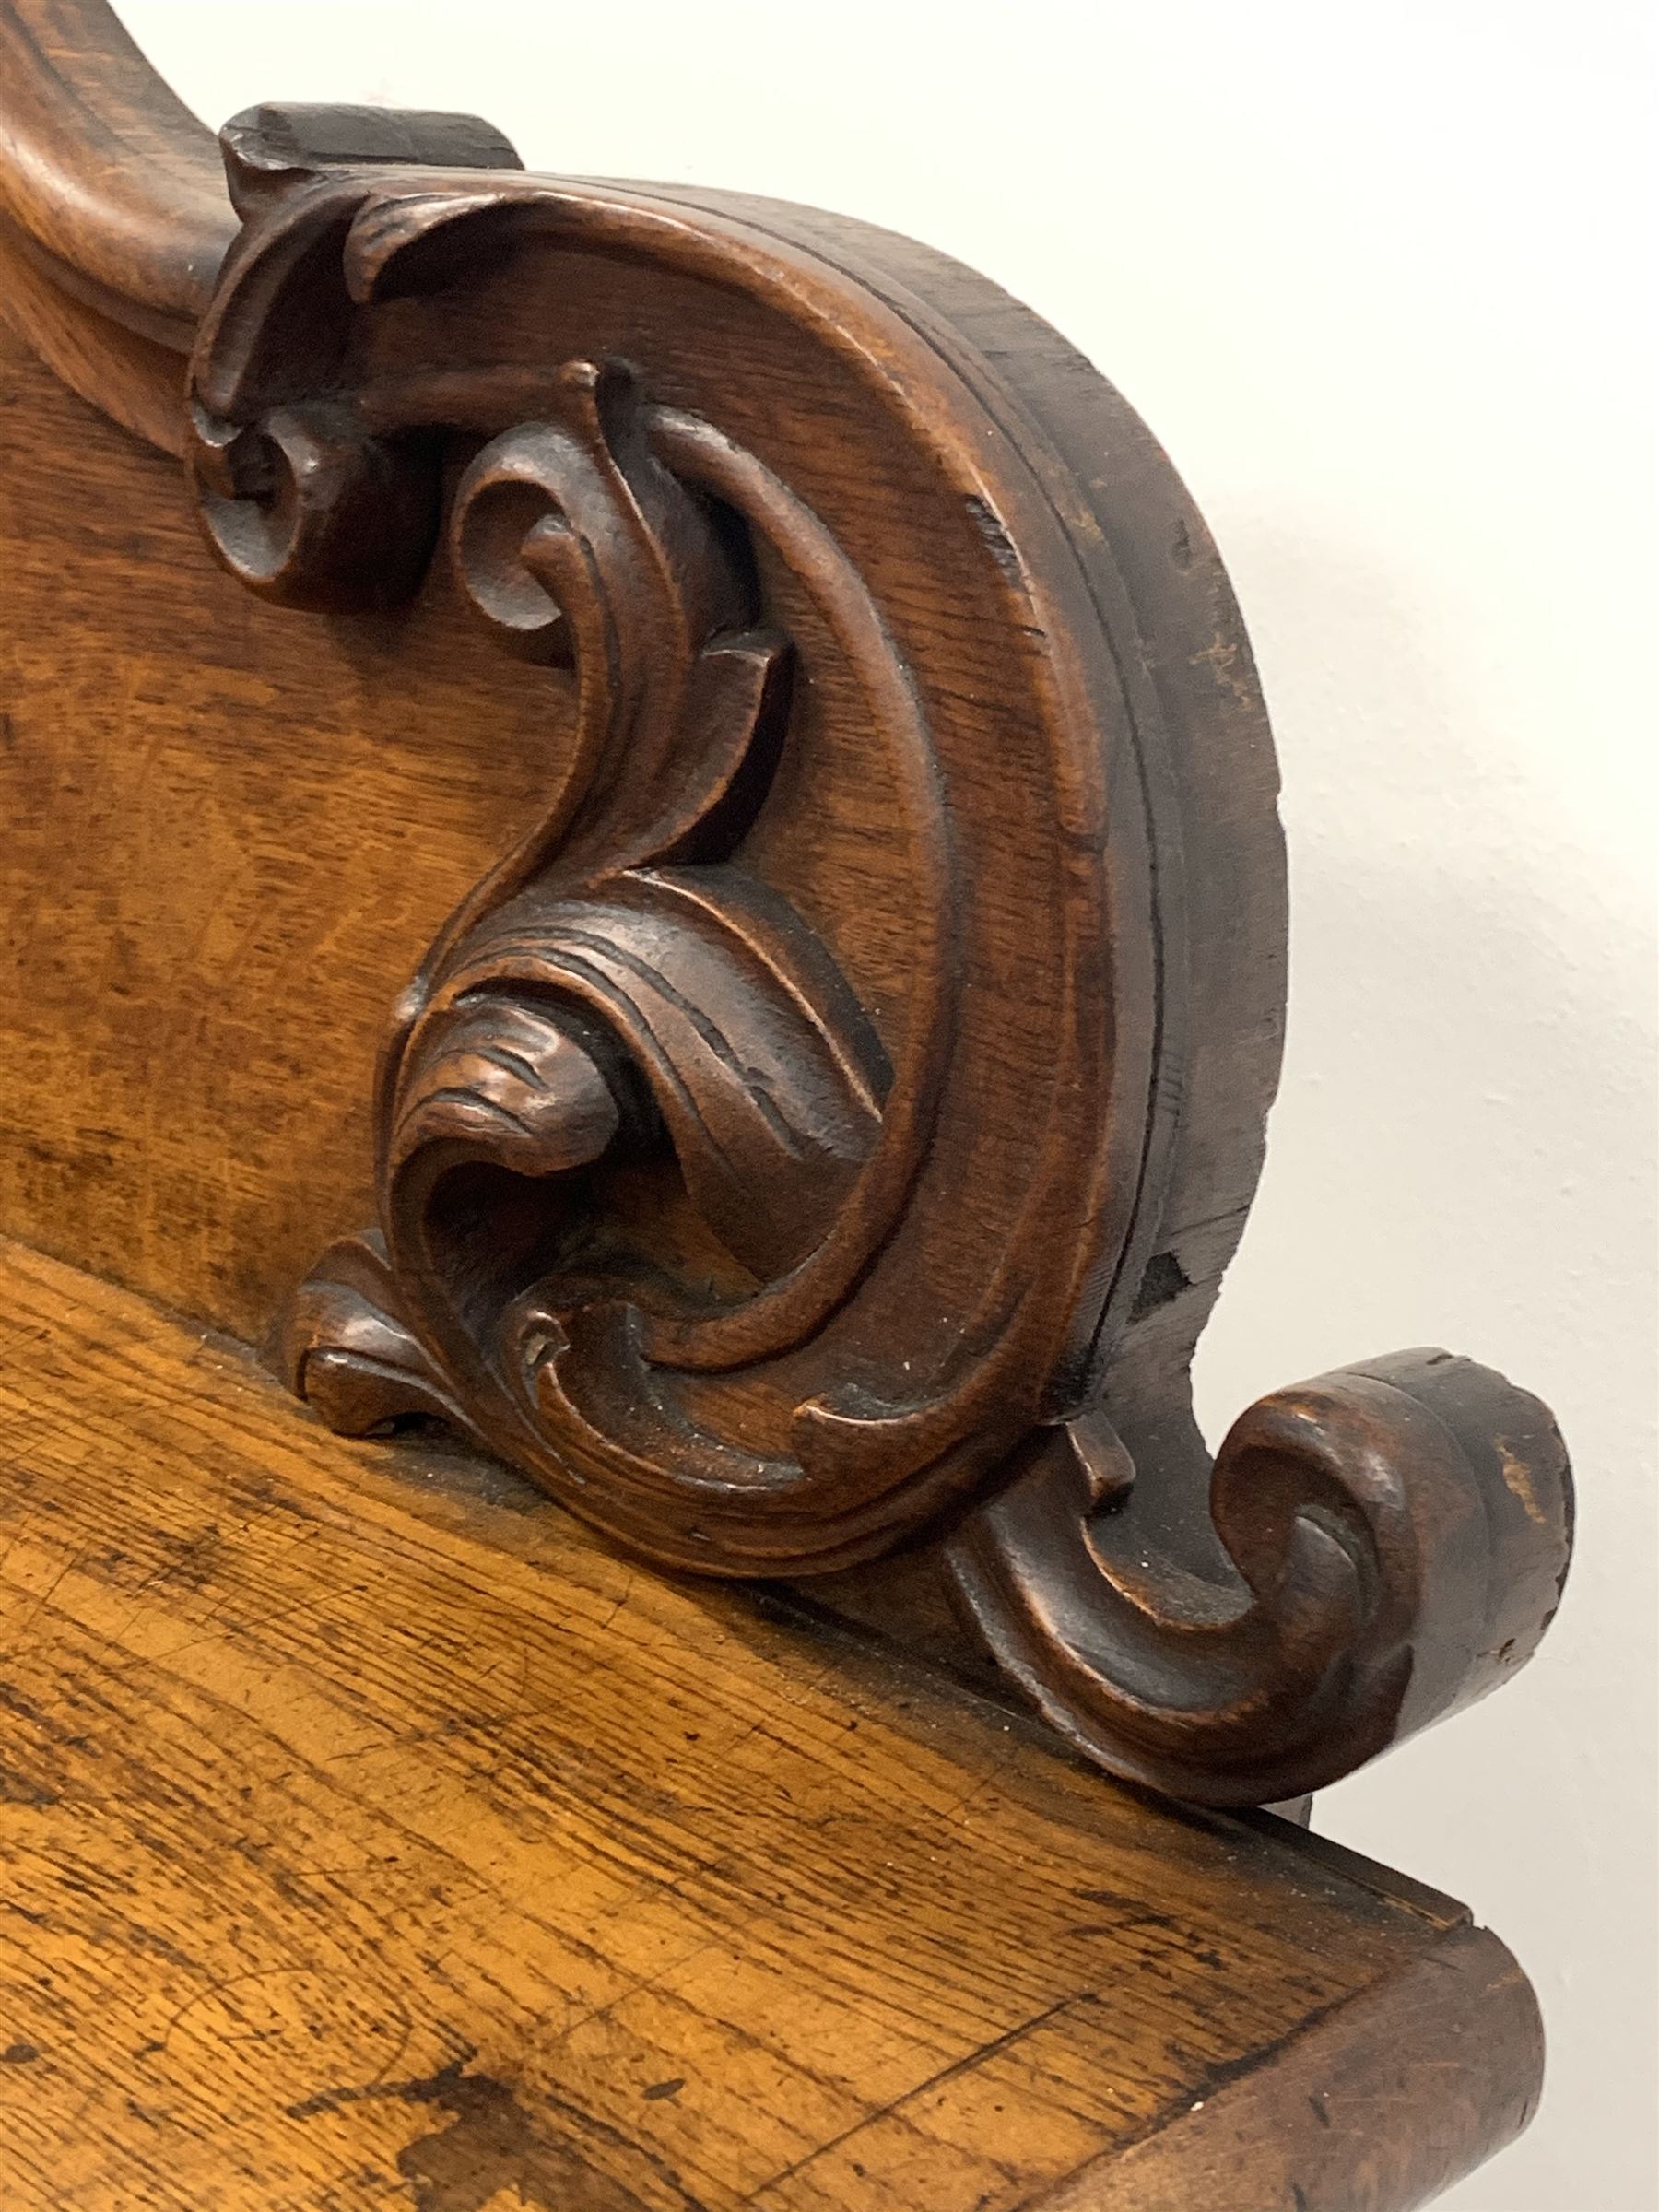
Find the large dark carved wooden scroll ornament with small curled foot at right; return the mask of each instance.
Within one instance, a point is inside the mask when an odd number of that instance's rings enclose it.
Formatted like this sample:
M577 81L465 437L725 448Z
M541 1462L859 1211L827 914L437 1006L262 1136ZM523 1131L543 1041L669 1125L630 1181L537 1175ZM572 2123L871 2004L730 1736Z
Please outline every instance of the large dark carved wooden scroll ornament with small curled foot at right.
M945 1588L1194 1798L1520 1666L1568 1537L1533 1398L1420 1352L1214 1464L1192 1425L1283 856L1239 613L1121 398L832 217L524 177L467 119L223 146L219 560L307 608L449 562L564 739L394 1009L380 1219L299 1292L294 1389L442 1416L670 1568L896 1632Z

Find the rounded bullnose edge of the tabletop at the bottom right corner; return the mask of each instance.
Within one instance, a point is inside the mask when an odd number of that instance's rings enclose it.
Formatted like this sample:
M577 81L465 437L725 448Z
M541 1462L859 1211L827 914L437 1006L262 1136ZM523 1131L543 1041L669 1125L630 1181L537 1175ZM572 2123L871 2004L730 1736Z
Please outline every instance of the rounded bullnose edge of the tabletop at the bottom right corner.
M1515 2141L1542 2079L1526 1975L1489 1929L1455 1927L1031 2212L1418 2212Z

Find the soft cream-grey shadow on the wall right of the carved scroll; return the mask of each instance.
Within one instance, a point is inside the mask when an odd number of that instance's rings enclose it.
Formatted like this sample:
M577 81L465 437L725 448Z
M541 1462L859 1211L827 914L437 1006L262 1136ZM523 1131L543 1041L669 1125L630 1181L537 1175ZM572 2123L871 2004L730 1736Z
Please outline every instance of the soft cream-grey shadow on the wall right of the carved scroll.
M1436 606L1336 533L1221 513L1219 538L1285 776L1292 984L1267 1170L1199 1352L1199 1411L1219 1440L1265 1389L1420 1343L1553 1405L1579 1475L1559 1621L1504 1697L1323 1794L1314 1825L1469 1898L1540 1991L1542 2115L1449 2208L1586 2203L1586 2132L1604 2212L1659 2203L1635 2117L1659 2053L1632 2026L1655 2017L1659 1955L1659 1053L1621 812L1648 737L1593 723L1571 639L1511 666L1515 608L1484 577L1484 599Z

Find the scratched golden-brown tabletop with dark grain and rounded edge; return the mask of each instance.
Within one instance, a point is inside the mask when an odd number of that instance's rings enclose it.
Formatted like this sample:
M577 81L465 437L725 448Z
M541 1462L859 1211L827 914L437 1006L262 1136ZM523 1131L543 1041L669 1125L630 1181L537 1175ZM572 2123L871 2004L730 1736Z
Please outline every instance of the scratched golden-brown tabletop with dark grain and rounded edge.
M1177 2124L1394 2212L1522 2119L1447 1900L18 1245L0 1438L7 2212L1166 2205Z

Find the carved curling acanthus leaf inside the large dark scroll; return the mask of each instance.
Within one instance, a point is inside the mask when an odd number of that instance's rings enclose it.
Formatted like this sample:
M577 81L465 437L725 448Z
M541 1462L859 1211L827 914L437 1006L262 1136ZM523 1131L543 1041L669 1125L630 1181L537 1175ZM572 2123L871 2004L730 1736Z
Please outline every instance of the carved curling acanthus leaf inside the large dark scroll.
M630 372L568 365L549 420L473 458L449 542L489 630L573 668L573 745L405 998L383 1214L420 1338L522 1422L549 1314L697 1321L818 1250L889 1071L825 945L732 863L790 648L741 522L655 458Z

